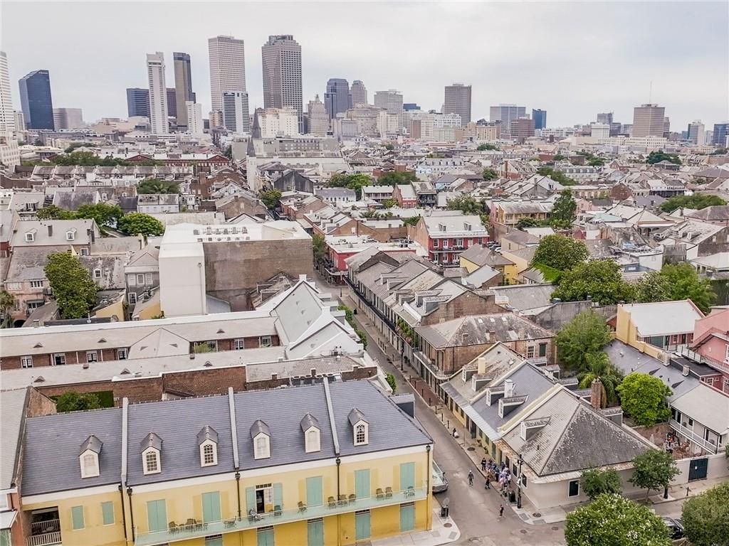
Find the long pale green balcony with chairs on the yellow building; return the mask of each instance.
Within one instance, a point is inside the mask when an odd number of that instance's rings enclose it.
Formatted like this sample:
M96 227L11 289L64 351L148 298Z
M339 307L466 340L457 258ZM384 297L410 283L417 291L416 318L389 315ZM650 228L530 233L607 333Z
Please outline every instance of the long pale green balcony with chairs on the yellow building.
M302 505L292 510L276 510L263 514L244 516L243 518L228 518L221 521L193 523L191 525L177 526L175 529L165 529L165 531L135 533L136 539L134 545L163 545L168 542L202 538L211 534L235 533L238 531L246 531L247 529L278 525L280 523L291 523L292 521L326 518L329 515L350 513L355 510L370 510L383 506L399 505L403 502L423 500L427 494L428 492L424 488L409 488L407 491L378 490L378 494L375 496L365 496L359 499L353 498L354 495L343 495L340 500L335 500L333 497L330 497L329 502L325 502L319 506Z

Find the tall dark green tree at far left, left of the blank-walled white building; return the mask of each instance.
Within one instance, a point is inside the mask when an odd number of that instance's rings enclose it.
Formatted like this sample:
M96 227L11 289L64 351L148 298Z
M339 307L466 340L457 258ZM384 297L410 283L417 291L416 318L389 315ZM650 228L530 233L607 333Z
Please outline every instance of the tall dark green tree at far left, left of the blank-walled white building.
M53 289L63 319L86 317L96 304L98 287L76 256L60 252L48 255L43 271Z

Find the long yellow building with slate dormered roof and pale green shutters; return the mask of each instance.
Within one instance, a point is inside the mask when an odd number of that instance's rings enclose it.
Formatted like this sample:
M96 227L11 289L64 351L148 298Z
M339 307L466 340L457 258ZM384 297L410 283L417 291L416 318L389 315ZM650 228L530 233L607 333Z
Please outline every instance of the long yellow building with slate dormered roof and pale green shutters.
M431 525L432 439L368 381L28 419L27 546L348 545Z

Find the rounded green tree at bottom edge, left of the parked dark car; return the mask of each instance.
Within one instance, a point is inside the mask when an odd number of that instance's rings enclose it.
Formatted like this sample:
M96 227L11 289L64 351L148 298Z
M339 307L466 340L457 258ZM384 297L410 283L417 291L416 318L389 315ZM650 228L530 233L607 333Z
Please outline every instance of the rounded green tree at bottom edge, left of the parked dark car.
M617 494L597 496L567 514L567 546L671 546L658 515Z

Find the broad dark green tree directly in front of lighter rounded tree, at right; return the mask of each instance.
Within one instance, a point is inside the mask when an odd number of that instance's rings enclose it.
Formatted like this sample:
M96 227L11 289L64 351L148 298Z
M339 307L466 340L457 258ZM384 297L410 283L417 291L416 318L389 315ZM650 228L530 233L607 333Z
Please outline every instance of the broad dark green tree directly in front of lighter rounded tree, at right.
M562 301L585 301L591 298L600 305L612 305L620 301L632 301L633 287L623 280L620 266L614 261L593 260L577 264L564 272L552 296Z

